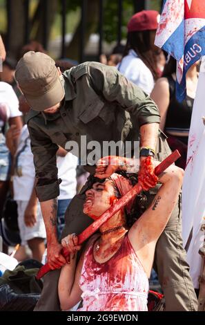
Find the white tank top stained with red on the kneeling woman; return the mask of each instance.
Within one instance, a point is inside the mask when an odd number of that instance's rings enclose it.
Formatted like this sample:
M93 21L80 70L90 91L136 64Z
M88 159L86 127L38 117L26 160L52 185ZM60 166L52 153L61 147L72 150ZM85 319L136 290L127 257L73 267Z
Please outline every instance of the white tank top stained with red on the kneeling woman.
M148 277L128 236L106 263L95 261L93 245L85 254L79 279L84 299L79 311L146 311Z

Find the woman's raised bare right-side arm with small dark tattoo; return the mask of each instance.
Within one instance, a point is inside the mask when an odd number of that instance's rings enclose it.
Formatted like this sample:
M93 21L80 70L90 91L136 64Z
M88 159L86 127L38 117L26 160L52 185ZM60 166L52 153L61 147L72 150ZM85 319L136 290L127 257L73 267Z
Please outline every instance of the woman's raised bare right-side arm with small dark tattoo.
M159 177L162 187L160 187L153 203L134 223L128 233L130 242L148 276L153 265L155 245L177 203L183 175L183 169L174 165L166 169Z

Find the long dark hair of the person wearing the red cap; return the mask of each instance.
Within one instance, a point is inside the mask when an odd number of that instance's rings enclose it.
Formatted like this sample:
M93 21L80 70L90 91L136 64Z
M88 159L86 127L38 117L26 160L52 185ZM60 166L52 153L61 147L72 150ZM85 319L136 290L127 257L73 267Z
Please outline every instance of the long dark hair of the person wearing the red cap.
M141 32L128 32L126 48L124 55L128 55L129 50L135 50L135 53L146 64L153 74L154 80L159 78L159 71L157 69L157 54L153 52L150 43L150 30L143 30Z

